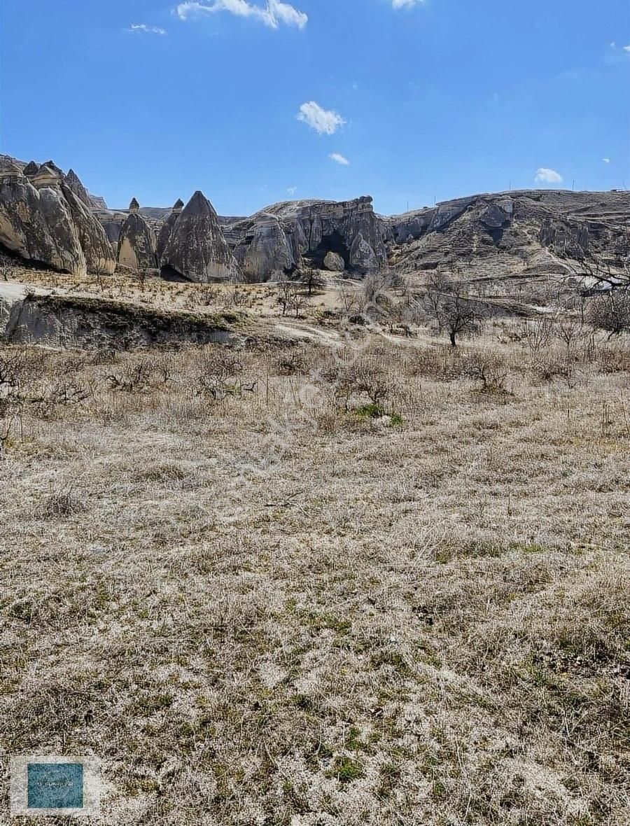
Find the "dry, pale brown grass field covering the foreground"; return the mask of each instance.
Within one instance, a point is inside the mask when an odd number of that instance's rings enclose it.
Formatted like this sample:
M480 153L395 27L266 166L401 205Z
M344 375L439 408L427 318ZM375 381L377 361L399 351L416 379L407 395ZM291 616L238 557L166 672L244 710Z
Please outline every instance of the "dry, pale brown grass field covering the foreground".
M2 752L107 826L630 823L628 337L335 335L0 347Z

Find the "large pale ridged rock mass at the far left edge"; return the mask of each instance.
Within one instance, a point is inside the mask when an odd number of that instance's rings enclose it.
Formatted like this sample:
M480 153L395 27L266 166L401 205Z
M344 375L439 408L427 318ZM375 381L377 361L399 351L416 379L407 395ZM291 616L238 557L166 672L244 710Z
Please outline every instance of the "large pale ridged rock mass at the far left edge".
M0 244L76 275L88 268L112 273L116 265L100 223L48 164L32 178L21 170L0 173Z

